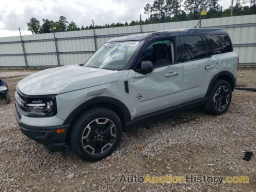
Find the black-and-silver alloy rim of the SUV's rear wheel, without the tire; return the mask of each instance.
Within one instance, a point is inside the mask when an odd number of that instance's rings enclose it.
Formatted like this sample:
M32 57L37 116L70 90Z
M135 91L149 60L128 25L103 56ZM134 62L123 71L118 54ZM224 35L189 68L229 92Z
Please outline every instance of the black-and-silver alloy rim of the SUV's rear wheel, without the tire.
M214 107L218 111L224 110L228 106L230 92L226 86L220 86L214 94Z

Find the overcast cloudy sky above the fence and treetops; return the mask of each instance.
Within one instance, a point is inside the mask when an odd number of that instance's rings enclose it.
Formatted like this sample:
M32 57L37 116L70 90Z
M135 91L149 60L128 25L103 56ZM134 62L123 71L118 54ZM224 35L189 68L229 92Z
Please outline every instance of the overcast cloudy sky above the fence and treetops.
M220 4L227 8L231 0L222 0ZM95 24L130 22L146 18L143 7L154 0L1 0L0 6L0 37L32 34L27 30L27 22L35 17L40 20L47 18L57 21L65 16L77 26Z

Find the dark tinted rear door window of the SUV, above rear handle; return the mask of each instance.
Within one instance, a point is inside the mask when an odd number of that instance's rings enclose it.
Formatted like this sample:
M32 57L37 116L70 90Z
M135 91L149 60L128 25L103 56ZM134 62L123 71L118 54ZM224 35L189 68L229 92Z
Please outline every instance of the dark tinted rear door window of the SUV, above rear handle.
M200 59L209 55L207 44L200 35L181 36L182 54L180 62Z

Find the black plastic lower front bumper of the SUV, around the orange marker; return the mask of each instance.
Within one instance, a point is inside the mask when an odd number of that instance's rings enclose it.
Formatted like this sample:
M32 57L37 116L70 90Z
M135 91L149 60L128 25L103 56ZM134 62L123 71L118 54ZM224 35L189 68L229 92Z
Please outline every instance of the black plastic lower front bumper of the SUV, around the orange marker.
M28 138L33 139L40 144L43 144L50 152L61 151L66 148L66 135L70 127L70 124L47 127L25 125L20 122L21 115L18 112L16 106L15 117L20 126L21 132ZM63 128L65 128L65 132L57 134L56 130Z

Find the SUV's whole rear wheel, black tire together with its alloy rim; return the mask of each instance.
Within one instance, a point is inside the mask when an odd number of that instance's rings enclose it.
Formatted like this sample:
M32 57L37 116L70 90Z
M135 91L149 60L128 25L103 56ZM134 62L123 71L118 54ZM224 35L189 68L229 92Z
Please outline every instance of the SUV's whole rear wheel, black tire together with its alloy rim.
M229 99L227 101L227 96L218 96L216 95L218 90L223 90L224 94L228 94L229 92ZM220 94L220 93L219 93ZM215 96L216 95L216 96ZM228 107L230 105L232 99L232 89L230 84L225 80L216 80L215 84L212 87L212 90L208 96L208 102L205 105L206 112L212 115L221 115L226 110L228 110ZM219 102L220 100L220 102ZM218 101L218 103L217 103ZM221 103L221 104L220 104ZM223 106L221 106L223 104ZM221 107L220 107L221 106Z

